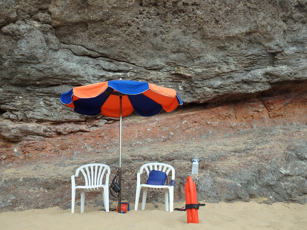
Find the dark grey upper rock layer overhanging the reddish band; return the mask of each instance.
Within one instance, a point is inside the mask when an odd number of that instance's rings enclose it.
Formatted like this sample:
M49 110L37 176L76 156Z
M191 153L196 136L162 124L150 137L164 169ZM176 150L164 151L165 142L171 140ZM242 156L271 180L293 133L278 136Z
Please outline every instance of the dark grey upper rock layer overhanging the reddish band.
M14 121L78 121L59 95L110 79L172 87L185 103L306 80L301 1L1 4L0 108Z

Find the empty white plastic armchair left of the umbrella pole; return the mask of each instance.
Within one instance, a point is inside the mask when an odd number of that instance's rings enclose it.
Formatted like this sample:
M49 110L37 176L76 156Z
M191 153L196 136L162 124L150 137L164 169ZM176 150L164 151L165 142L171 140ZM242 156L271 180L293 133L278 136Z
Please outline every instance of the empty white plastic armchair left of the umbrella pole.
M76 186L75 178L82 172L85 180L85 185ZM107 171L107 173L106 173ZM109 176L110 167L106 164L86 164L76 170L76 174L72 175L72 213L75 212L75 196L76 191L81 193L81 213L84 213L85 193L102 191L103 204L106 212L109 212ZM103 177L106 173L105 183Z

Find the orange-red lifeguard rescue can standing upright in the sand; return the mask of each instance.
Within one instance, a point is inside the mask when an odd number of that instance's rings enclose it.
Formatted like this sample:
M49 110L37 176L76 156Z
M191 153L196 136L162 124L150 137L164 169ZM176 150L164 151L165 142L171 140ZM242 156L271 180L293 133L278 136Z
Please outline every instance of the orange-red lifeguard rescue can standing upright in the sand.
M187 220L189 223L198 224L198 205L196 197L196 186L192 177L188 176L185 183L185 209L187 211Z

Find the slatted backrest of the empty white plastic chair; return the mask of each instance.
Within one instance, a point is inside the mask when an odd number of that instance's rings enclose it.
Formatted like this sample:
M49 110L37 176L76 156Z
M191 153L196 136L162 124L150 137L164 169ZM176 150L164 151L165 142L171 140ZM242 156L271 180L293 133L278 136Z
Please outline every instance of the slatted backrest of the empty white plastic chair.
M76 177L81 172L84 176L85 186L103 185L103 176L106 171L110 174L110 167L106 164L86 164L77 168Z

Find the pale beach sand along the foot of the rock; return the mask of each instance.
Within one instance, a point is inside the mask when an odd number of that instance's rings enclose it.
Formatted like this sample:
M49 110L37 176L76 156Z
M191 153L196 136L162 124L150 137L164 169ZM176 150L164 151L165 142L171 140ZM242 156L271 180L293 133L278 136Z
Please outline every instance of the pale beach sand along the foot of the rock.
M174 208L183 206L184 203L174 203ZM77 205L75 213L59 207L4 212L0 213L0 229L307 229L307 204L266 205L255 201L206 203L198 210L199 224L187 224L185 211L165 212L163 204L155 208L153 204L146 203L146 210L140 208L141 205L138 211L134 211L134 204L130 203L127 213L107 213L101 207L87 204L84 213L80 213Z

